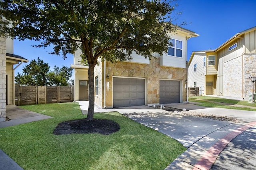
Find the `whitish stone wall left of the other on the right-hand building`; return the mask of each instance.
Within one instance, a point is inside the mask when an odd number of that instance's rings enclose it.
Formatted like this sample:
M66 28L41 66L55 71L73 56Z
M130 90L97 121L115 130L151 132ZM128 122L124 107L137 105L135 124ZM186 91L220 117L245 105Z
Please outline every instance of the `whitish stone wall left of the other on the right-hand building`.
M242 56L224 62L223 73L223 96L242 98Z

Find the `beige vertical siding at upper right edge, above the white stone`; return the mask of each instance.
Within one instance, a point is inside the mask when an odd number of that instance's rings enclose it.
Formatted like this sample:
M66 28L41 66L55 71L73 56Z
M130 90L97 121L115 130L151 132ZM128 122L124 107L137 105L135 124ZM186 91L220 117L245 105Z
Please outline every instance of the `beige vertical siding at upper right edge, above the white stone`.
M245 53L256 53L256 31L244 35Z

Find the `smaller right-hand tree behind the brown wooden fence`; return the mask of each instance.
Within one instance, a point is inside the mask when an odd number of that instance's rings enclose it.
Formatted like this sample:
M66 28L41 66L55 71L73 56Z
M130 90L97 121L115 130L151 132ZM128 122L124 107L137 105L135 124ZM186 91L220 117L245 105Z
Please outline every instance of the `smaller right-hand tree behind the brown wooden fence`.
M69 86L68 80L72 76L72 68L54 66L54 70L48 73L50 86Z

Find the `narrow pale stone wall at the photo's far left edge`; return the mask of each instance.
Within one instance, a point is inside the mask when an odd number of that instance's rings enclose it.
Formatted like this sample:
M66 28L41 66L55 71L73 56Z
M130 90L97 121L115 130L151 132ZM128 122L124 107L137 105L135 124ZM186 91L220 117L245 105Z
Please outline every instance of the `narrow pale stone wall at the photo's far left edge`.
M6 119L6 38L0 37L0 122Z

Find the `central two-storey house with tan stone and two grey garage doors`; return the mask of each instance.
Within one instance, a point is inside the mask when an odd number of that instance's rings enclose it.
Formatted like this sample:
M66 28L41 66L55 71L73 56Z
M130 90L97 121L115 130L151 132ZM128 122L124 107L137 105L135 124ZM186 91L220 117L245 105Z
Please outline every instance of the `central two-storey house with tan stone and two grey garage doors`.
M197 37L193 31L178 27L172 35L174 47L148 60L132 54L132 60L95 66L95 104L102 108L158 105L187 101L187 41ZM80 63L80 51L74 54L75 100L88 100L88 66Z

